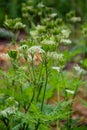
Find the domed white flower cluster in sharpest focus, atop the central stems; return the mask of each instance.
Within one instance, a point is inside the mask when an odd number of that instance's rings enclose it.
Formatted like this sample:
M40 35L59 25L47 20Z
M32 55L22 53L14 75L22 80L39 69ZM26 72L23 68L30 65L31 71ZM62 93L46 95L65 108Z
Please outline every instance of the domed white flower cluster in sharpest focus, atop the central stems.
M41 48L41 46L32 46L28 49L28 53L34 55L36 52L43 54L45 51Z

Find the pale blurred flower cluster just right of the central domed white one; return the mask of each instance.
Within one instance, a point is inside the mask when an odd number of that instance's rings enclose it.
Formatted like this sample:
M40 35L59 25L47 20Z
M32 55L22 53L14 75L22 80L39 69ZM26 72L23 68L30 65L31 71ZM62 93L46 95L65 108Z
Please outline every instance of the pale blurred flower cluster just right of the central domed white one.
M48 52L48 57L53 58L54 60L63 61L63 54L58 54L57 52Z

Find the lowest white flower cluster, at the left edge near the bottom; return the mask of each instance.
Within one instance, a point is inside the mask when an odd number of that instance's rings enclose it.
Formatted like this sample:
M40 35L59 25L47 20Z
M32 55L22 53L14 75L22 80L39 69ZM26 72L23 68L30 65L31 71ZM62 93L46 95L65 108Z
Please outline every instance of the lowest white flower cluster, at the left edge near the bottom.
M8 115L13 115L17 111L17 108L15 106L8 107L5 110L1 111L1 115L3 117L8 117Z

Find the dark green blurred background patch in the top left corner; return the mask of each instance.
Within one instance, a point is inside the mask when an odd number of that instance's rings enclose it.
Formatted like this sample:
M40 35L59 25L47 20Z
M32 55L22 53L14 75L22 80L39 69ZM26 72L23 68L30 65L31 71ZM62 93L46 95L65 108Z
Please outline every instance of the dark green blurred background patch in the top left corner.
M21 17L21 4L26 0L0 0L0 25L3 24L5 15L11 18Z

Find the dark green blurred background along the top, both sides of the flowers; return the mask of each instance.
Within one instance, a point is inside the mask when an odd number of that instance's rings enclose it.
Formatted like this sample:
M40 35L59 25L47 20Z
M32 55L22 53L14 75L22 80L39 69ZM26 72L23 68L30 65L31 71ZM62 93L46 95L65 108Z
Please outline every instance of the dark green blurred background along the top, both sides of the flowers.
M0 26L3 25L5 15L11 18L21 17L21 5L27 0L0 0ZM87 21L87 0L35 0L43 1L53 7L59 17L64 17L70 10L75 10L82 20Z

